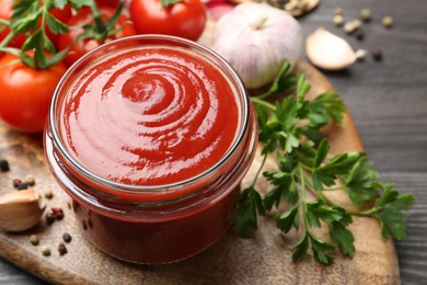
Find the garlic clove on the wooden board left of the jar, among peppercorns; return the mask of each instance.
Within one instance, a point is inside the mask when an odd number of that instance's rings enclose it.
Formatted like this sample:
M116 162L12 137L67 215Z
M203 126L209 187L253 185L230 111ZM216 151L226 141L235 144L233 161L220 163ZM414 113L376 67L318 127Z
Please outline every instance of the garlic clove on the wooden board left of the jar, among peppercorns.
M42 218L45 204L34 190L12 192L0 196L0 228L22 231L35 226Z

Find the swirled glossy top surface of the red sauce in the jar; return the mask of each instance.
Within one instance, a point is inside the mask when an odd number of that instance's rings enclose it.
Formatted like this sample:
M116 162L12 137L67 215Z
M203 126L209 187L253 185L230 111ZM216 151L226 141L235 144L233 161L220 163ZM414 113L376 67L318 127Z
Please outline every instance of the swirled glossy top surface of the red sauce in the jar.
M61 107L67 149L89 171L135 185L189 179L215 166L242 114L223 73L195 53L145 46L88 66Z

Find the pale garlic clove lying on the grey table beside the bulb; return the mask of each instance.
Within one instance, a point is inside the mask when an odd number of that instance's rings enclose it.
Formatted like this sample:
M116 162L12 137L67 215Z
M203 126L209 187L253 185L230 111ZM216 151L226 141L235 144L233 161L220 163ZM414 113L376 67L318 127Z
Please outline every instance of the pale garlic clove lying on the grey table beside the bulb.
M322 27L307 37L305 54L313 65L325 70L341 70L356 60L355 52L344 38Z

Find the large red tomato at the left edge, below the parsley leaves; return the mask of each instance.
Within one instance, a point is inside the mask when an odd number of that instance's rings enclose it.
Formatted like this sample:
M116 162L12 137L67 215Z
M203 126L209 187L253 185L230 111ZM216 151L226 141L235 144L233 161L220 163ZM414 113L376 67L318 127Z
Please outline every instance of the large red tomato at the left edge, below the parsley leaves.
M0 117L16 129L38 133L45 126L55 87L67 68L59 62L38 70L16 58L8 54L0 59Z

